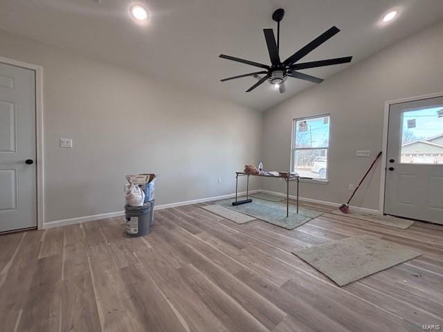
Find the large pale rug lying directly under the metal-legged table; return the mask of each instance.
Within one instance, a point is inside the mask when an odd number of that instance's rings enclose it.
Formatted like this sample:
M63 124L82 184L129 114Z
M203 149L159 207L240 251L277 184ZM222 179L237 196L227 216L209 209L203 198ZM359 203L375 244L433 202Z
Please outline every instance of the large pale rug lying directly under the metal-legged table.
M246 197L239 198L239 201L246 199ZM307 221L316 218L323 214L316 210L310 210L300 207L298 213L296 211L296 205L289 204L289 217L286 216L286 203L264 201L262 199L253 199L251 203L245 203L242 205L232 205L233 199L226 199L224 201L217 202L218 205L234 210L248 216L253 216L256 219L278 225L287 230L292 230Z

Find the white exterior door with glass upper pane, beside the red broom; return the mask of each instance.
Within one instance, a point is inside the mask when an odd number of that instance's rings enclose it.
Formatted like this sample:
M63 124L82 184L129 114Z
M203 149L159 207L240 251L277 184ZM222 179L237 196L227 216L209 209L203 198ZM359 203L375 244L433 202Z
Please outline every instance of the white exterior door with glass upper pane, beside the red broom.
M390 105L384 212L443 224L443 97Z

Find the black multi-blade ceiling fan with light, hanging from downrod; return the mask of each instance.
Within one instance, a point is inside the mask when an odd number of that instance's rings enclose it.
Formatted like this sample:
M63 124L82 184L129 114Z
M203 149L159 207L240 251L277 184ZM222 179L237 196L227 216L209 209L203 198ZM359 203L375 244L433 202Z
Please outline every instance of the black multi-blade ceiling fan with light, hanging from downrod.
M246 92L251 92L253 89L255 89L257 86L262 84L264 81L269 81L269 83L273 84L275 86L275 89L279 89L280 93L284 93L286 91L286 87L284 86L284 81L286 81L287 77L293 77L298 78L299 80L305 80L309 82L314 83L321 83L323 80L318 77L314 77L311 75L307 75L304 73L300 73L298 70L300 69L307 69L307 68L315 68L315 67L321 67L321 66L331 66L333 64L345 64L347 62L351 62L352 57L337 57L335 59L327 59L327 60L319 60L319 61L313 61L313 62L303 62L303 63L296 63L302 57L305 57L308 53L310 53L312 50L323 44L327 41L327 39L331 38L332 36L336 35L336 33L340 32L340 29L338 29L336 26L333 26L329 30L325 31L325 33L322 33L320 36L318 36L316 39L314 39L312 42L307 44L306 46L300 48L296 53L293 53L290 57L288 57L286 60L282 61L280 59L280 55L278 53L279 46L280 46L280 21L284 17L284 10L282 8L275 10L272 15L272 19L277 22L277 41L275 42L275 36L272 29L263 29L264 32L264 38L266 39L266 44L268 46L269 51L269 58L271 59L271 66L268 66L266 64L260 64L258 62L253 62L245 59L240 59L239 57L231 57L230 55L224 55L221 54L219 57L223 59L228 59L236 62L242 62L242 64L249 64L251 66L259 67L265 69L264 71L256 71L254 73L247 73L243 75L237 75L233 77L224 78L221 80L221 82L226 82L229 80L235 80L236 78L240 77L248 77L248 76L254 76L257 77L257 75L266 74L264 77L260 78L260 80L255 83L251 88L246 90Z

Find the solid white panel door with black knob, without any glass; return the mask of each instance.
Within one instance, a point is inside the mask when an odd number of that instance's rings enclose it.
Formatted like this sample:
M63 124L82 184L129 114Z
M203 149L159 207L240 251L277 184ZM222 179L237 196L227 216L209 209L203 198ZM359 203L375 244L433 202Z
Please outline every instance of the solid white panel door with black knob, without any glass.
M35 71L0 63L0 232L37 226L35 142Z

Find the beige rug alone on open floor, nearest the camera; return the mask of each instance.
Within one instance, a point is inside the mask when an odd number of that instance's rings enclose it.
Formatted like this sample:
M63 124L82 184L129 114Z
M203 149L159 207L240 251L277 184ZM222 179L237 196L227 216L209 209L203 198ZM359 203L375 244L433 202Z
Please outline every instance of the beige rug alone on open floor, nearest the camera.
M412 248L368 236L347 237L293 250L293 254L338 286L345 286L422 255Z

